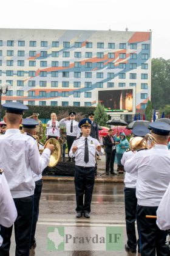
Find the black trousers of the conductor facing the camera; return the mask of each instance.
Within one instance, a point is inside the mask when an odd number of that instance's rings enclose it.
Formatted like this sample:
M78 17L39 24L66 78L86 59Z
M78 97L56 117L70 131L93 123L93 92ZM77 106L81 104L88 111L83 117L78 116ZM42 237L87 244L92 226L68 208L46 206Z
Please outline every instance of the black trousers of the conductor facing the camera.
M77 212L90 212L92 202L92 193L95 183L95 167L86 167L75 165L75 192ZM83 204L84 197L84 204Z

